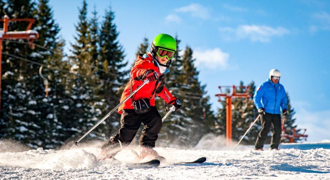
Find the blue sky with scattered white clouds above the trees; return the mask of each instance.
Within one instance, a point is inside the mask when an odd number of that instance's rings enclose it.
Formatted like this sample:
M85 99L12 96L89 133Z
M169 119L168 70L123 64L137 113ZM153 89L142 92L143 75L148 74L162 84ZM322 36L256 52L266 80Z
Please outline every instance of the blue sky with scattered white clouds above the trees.
M126 60L138 45L159 33L181 39L180 49L194 50L199 79L207 84L213 109L218 86L263 83L273 68L289 92L298 128L308 141L330 139L329 1L109 1L87 0L100 19L111 5ZM74 42L81 0L50 0L61 36Z

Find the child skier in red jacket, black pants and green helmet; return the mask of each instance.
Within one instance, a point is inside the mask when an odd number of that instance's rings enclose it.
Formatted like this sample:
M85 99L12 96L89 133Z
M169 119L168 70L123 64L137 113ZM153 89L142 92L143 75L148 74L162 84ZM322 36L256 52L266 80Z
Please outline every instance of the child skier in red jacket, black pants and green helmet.
M174 106L175 110L181 107L180 100L164 86L165 74L169 72L168 68L176 48L177 44L172 36L158 34L152 41L150 52L139 54L130 72L131 80L121 95L121 101L144 81L149 80L149 83L118 108L118 113L121 114L121 128L102 146L99 159L112 158L122 148L129 145L141 123L145 128L140 137L139 158L159 157L158 153L152 149L162 128L162 118L155 107L155 95L165 101L165 107Z

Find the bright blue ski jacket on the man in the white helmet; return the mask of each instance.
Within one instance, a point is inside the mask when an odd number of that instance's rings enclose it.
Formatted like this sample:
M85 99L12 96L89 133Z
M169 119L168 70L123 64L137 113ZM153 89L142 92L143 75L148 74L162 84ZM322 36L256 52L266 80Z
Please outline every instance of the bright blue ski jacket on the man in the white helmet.
M253 102L257 109L264 108L266 113L281 114L287 109L286 92L280 83L274 84L270 79L262 83L253 95Z

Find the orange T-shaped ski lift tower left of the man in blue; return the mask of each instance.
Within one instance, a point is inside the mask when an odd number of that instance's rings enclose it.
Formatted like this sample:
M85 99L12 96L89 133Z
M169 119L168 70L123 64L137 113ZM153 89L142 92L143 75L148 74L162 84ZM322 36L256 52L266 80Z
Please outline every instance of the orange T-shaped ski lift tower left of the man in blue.
M227 102L227 105L226 105L226 143L227 143L227 146L230 146L231 144L231 138L232 138L232 131L231 131L231 106L232 106L232 103L231 103L231 98L232 97L251 97L251 94L248 94L248 89L249 87L248 86L239 86L241 88L245 88L245 92L243 93L236 93L235 90L236 90L236 87L233 85L233 86L219 86L219 89L220 89L220 94L215 94L215 96L219 97L219 102L221 102L221 98L220 97L226 97L226 102ZM221 88L233 88L232 92L227 92L227 93L223 93Z

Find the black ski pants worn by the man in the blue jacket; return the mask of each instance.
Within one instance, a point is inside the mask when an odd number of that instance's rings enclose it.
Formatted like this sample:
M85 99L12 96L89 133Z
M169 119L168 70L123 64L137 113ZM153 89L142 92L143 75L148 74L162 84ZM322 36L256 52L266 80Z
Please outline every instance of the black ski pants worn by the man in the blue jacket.
M280 114L269 114L260 116L262 128L259 132L258 138L255 142L255 149L262 149L264 147L264 142L267 138L267 134L269 132L270 126L273 123L274 130L273 136L271 140L271 149L277 149L281 140L281 115Z

